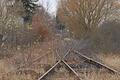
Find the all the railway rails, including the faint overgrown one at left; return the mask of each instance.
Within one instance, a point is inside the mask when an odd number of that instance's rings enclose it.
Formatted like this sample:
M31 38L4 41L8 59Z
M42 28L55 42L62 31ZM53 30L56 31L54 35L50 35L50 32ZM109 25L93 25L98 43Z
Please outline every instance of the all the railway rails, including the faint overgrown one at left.
M87 60L87 61L88 61L89 63L91 63L91 64L94 63L94 65L100 65L100 66L106 68L107 70L109 70L110 72L120 75L120 72L119 72L119 71L117 71L117 70L115 70L115 69L107 66L106 64L104 64L104 63L102 63L102 62L99 62L99 61L96 61L96 60L94 60L94 59L92 59L92 58L90 58L90 57L82 54L82 53L79 52L79 51L69 49L62 58L61 58L61 56L58 54L57 56L58 56L58 59L59 59L59 60L58 60L47 72L45 72L42 76L39 76L38 80L42 80L43 78L45 78L45 77L47 76L47 74L49 74L49 73L50 73L57 65L59 65L60 63L64 63L65 66L67 66L67 67L69 68L69 70L71 70L71 71L75 74L75 76L77 77L78 80L83 80L82 78L80 78L80 75L78 75L78 73L64 60L64 59L66 58L66 56L69 55L71 52L74 53L74 54L79 55L80 57L82 57L83 59ZM33 61L32 64L27 65L27 66L32 66L36 61L41 60L41 59L42 59L44 56L46 56L46 55L48 55L48 53L47 53L47 54L44 54L44 55L42 55L42 56L40 56L40 57L38 57L37 59L35 59L35 60ZM21 68L24 68L25 66L26 66L26 65L20 66L20 67L18 68L18 70L21 69Z

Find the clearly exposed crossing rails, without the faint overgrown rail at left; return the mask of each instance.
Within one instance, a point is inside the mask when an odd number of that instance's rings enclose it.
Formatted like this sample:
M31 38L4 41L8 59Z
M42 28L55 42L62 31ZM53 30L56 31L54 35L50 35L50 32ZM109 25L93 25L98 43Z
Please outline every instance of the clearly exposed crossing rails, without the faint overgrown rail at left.
M106 68L107 70L109 70L110 72L120 75L119 71L117 71L117 70L115 70L115 69L107 66L106 64L103 64L103 63L98 62L98 61L96 61L96 60L94 60L92 58L89 58L89 57L81 54L79 51L69 49L68 52L63 56L63 58L61 58L58 55L59 61L57 61L47 72L45 72L42 76L40 76L38 78L38 80L42 80L43 78L45 78L47 76L47 74L50 73L61 62L64 63L65 66L67 66L76 75L76 77L78 78L78 80L82 80L82 78L79 77L79 75L77 74L77 72L71 66L69 66L69 64L67 62L65 62L65 60L64 60L66 58L66 56L70 54L70 52L73 52L74 54L78 54L79 56L81 56L84 59L86 59L87 61L89 61L89 63L92 62L92 63L94 63L94 65L100 65L100 66Z

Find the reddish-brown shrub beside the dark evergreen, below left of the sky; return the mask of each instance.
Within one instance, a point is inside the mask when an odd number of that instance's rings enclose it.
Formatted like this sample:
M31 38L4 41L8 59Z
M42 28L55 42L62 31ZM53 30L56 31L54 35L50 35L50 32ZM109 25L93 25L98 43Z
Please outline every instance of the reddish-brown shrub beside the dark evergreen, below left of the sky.
M41 35L42 39L50 36L50 16L44 9L38 9L35 15L32 18L32 27L33 29Z

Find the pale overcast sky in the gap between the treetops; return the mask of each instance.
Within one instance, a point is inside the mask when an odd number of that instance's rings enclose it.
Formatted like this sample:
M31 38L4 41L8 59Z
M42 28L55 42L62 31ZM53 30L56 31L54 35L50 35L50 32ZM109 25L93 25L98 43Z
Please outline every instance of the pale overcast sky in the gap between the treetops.
M46 9L48 9L50 14L56 14L57 0L40 0L39 3L41 3Z

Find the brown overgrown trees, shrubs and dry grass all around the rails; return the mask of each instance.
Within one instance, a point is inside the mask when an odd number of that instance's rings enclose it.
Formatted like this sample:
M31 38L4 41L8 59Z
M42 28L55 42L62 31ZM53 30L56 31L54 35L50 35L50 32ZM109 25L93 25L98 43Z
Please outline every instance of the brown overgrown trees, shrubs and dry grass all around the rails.
M0 0L0 80L37 80L69 49L120 70L120 4L116 0L59 1L52 16L50 9L38 6L38 0ZM78 57L71 57L68 62L74 65ZM82 76L78 73L85 80L120 79L104 69L85 70ZM57 74L50 74L51 80L61 75L74 80L62 65L53 72Z

